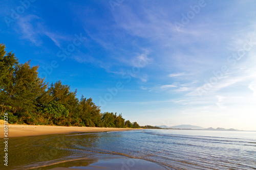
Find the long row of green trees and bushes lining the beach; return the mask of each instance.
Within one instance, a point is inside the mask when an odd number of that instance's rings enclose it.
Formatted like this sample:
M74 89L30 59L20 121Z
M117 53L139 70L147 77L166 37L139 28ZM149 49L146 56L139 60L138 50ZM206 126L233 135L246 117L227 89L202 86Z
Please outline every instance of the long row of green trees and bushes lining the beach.
M78 100L76 90L60 81L49 85L37 69L30 61L20 64L0 44L0 119L8 112L10 124L140 128L122 114L101 113L91 98Z

